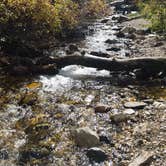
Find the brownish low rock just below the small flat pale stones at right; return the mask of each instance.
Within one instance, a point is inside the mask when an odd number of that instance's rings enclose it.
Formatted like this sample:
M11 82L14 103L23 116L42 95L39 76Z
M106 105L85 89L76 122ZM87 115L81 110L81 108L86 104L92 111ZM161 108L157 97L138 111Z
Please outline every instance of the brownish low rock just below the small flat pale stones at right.
M132 117L129 114L119 113L119 114L111 115L110 119L113 123L121 123L121 122L127 122L128 120L131 120Z

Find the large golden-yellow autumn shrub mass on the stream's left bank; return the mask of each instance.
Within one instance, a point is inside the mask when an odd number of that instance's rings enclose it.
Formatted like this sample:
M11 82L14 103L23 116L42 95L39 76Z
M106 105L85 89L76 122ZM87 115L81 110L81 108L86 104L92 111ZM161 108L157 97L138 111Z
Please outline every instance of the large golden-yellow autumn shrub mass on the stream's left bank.
M104 7L104 0L1 0L1 48L38 47L73 29L82 13L96 16Z

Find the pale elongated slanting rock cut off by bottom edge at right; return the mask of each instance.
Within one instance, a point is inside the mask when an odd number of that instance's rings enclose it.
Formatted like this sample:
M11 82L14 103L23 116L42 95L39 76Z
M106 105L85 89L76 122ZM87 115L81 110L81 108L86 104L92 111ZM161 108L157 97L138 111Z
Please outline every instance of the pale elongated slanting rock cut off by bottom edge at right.
M150 165L153 160L154 153L151 151L143 151L137 158L135 158L129 166L143 166Z

